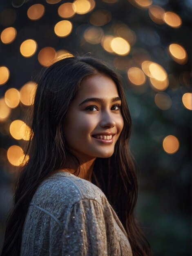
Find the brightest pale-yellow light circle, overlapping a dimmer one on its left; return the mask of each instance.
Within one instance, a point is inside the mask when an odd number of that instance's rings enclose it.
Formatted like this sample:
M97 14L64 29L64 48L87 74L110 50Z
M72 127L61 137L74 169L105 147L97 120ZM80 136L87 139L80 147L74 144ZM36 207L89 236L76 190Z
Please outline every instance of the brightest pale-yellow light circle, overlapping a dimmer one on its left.
M129 54L131 49L127 40L121 37L115 37L114 39L112 39L111 47L116 54L122 55L122 56Z

